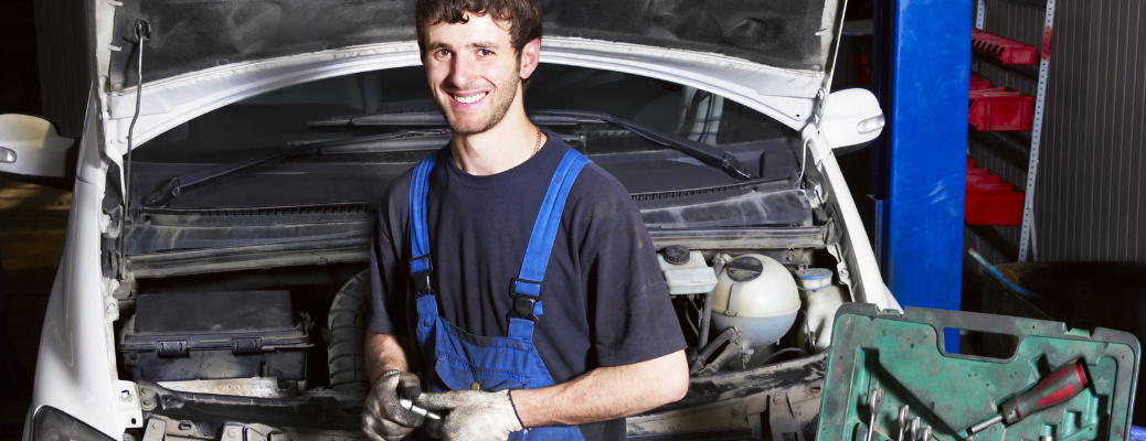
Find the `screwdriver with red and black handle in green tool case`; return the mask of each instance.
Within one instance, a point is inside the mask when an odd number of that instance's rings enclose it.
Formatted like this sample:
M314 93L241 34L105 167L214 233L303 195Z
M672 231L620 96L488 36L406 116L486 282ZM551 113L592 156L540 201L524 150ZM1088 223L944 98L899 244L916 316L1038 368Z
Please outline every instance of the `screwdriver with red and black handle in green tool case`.
M1082 363L1074 362L1055 369L1030 391L1004 401L1003 404L999 404L997 415L971 426L967 434L982 432L998 422L1005 422L1010 426L1039 410L1061 404L1082 392L1086 387L1086 383L1089 383L1086 371L1083 370Z

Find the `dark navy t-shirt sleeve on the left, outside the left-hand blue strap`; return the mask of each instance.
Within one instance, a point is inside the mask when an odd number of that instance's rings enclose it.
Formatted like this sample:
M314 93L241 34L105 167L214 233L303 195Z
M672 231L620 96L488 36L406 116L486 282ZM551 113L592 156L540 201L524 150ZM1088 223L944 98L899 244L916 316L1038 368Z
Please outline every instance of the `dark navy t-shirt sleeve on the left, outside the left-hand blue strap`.
M393 190L393 189L391 189ZM370 239L370 322L367 329L377 333L406 336L409 333L406 318L407 283L401 271L401 254L391 226L392 205L390 195L378 210L374 236ZM400 233L400 231L399 231Z

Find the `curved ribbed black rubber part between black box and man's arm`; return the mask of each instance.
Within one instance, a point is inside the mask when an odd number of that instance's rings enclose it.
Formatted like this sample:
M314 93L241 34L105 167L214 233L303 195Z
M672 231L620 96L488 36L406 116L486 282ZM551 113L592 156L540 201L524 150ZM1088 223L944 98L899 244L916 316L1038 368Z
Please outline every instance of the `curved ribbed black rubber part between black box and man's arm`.
M330 368L331 389L366 392L370 388L364 348L369 299L370 270L363 270L351 277L330 304L327 365Z

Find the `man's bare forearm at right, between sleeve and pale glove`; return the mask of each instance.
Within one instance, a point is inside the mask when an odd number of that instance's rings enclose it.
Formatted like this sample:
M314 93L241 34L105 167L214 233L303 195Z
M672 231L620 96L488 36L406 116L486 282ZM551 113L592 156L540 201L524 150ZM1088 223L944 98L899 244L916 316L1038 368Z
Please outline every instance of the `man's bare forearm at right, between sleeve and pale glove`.
M684 352L619 367L597 368L570 381L512 392L525 427L604 422L639 414L684 396Z

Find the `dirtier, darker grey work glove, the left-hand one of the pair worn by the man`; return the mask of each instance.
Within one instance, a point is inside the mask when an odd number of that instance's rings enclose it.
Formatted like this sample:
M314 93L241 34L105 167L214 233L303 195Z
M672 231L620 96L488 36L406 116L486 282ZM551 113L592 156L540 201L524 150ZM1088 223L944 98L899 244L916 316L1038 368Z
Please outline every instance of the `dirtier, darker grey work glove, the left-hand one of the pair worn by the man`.
M362 433L370 441L398 441L422 425L421 415L399 403L399 391L411 387L421 392L418 376L400 370L388 370L374 383L362 409Z

